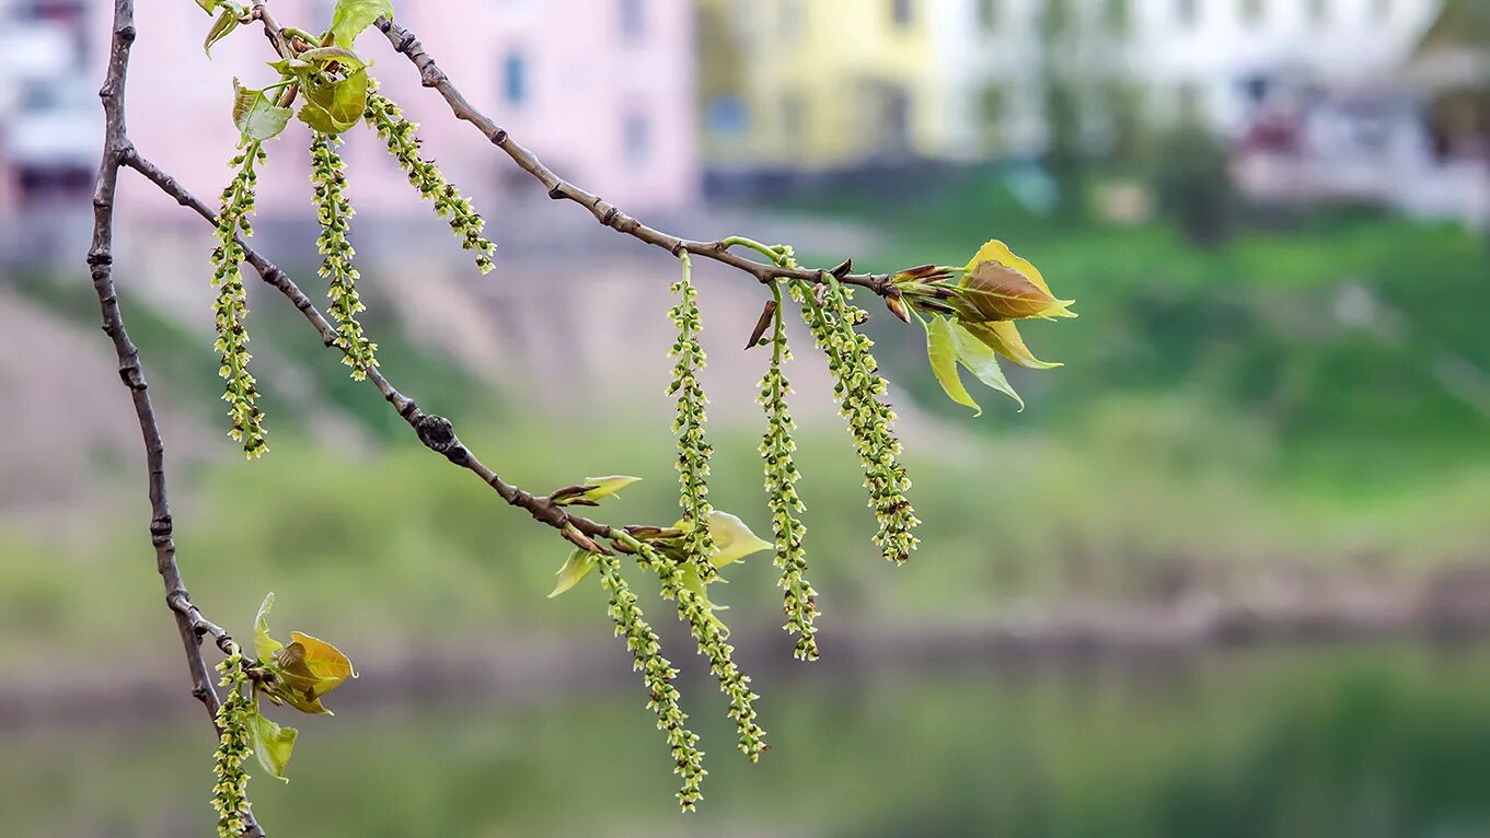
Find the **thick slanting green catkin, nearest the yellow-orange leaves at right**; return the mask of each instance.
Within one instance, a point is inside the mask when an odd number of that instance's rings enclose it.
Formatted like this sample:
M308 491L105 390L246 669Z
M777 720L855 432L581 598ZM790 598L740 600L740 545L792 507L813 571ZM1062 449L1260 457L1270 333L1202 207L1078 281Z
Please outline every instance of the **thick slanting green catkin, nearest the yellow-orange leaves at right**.
M827 354L839 412L848 420L864 469L864 488L879 519L875 543L887 560L900 564L919 543L912 530L921 521L906 500L910 479L900 464L900 441L890 430L895 414L885 402L888 386L870 354L875 342L857 329L869 316L852 304L852 292L842 283L830 275L824 275L822 281L821 304L811 292L796 286L791 295L802 302L802 319Z

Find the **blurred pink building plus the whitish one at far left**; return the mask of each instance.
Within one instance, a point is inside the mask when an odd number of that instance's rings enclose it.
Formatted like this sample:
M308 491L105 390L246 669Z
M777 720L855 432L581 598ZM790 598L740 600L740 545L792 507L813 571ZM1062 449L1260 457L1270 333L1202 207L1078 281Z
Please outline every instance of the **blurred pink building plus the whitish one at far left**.
M302 28L329 22L332 0L276 0ZM107 0L0 0L0 217L39 205L80 205L98 165L97 88L107 58ZM691 0L490 0L399 3L408 25L465 95L560 176L641 210L676 208L697 193ZM262 36L244 28L213 49L194 3L139 3L130 77L130 132L204 199L225 185L237 141L232 79L276 80ZM411 64L377 31L359 48L423 128L426 153L451 180L492 204L547 199L444 101L420 88ZM423 213L370 131L347 135L353 195L367 213ZM268 146L259 214L308 213L304 127ZM155 195L125 189L131 211L174 214Z

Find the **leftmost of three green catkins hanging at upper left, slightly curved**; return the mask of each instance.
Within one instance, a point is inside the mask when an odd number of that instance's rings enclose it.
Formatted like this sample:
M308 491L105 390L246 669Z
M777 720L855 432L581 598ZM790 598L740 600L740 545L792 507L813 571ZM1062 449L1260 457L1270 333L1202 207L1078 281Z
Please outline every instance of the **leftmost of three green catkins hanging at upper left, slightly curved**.
M240 271L243 247L238 244L238 237L253 235L249 216L253 213L255 188L259 180L256 165L265 159L268 153L264 147L250 143L228 164L235 173L232 183L222 191L222 205L218 210L218 247L212 252L212 284L218 289L213 302L216 350L222 357L218 375L228 383L222 400L228 402L228 417L232 421L228 436L243 444L249 458L268 451L268 442L264 439L264 411L258 406L258 386L249 372L249 360L253 356L249 354L249 333L243 323L249 314L249 299Z

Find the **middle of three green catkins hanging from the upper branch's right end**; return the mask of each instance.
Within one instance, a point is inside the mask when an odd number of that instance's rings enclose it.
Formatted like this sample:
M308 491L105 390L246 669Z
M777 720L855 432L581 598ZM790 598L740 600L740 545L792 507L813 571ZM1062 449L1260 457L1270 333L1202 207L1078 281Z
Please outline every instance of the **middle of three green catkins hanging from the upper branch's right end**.
M766 435L760 444L761 458L766 461L766 503L770 506L770 522L776 542L776 567L781 569L778 585L782 589L782 610L787 624L782 627L797 636L794 655L799 661L818 659L817 625L818 592L808 582L808 557L803 549L806 525L797 516L806 512L806 505L797 494L797 472L794 451L797 450L791 432L797 423L791 418L787 406L787 394L791 393L791 383L782 372L782 363L791 360L791 347L787 345L787 323L781 310L781 287L772 286L776 296L773 313L775 327L770 335L770 368L760 380L760 403L766 408Z

